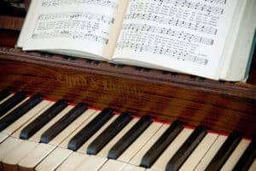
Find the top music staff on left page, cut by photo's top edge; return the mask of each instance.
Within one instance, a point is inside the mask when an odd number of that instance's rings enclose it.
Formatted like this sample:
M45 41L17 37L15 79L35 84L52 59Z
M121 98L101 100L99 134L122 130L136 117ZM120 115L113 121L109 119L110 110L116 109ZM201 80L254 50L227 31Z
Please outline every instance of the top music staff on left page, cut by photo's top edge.
M56 7L71 4L86 4L86 5L98 5L103 7L110 7L116 9L118 7L117 1L109 0L43 0L43 7Z

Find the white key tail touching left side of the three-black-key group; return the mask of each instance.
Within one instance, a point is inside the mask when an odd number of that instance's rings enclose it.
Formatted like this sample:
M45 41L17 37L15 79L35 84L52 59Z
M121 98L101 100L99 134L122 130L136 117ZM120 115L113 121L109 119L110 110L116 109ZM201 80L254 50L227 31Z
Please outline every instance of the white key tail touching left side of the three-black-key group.
M73 131L72 134L68 135L67 138L66 138L65 140L63 140L63 141L61 142L61 144L58 145L58 146L60 146L60 147L62 147L62 148L67 148L67 145L68 145L69 141L73 138L73 136L74 136L75 134L77 134L82 128L84 128L85 125L87 125L88 123L90 123L90 121L91 121L92 119L94 119L97 115L99 115L100 112L101 112L101 111L95 111L95 112L91 115L91 117L89 117L87 120L85 120L84 123L82 123L82 124L79 126L79 128L76 128L76 130Z

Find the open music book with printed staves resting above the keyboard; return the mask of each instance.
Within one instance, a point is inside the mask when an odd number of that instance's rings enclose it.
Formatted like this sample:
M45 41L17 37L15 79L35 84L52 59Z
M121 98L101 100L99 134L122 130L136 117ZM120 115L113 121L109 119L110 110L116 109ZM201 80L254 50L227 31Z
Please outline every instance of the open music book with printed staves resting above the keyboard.
M241 81L255 9L255 0L32 0L17 47Z

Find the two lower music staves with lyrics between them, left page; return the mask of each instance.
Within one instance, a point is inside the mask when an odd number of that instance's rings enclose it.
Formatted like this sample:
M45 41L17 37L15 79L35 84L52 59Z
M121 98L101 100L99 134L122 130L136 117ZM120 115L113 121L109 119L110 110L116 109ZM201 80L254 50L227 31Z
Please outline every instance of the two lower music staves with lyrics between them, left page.
M33 39L38 38L70 38L90 40L108 44L108 31L113 18L93 13L56 13L41 14L32 33Z

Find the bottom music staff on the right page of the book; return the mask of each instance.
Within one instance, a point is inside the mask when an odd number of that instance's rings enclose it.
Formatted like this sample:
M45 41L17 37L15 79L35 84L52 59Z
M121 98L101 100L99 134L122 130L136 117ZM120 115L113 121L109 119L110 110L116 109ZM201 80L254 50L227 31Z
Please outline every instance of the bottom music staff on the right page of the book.
M163 48L161 46L150 45L146 43L131 43L131 42L119 42L117 48L120 49L132 49L135 52L149 52L152 54L162 54L176 60L187 60L200 65L207 66L208 60L192 54L184 53L182 50L172 50L170 48Z

